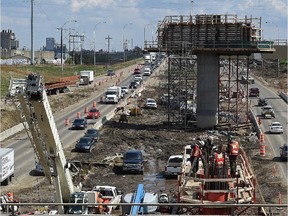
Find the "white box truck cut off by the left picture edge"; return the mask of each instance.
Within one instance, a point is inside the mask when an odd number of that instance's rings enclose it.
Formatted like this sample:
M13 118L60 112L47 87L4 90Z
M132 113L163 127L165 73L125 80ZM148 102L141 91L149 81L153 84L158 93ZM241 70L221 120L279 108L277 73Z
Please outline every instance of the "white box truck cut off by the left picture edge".
M1 185L8 185L14 177L14 149L13 148L0 148L0 178Z

